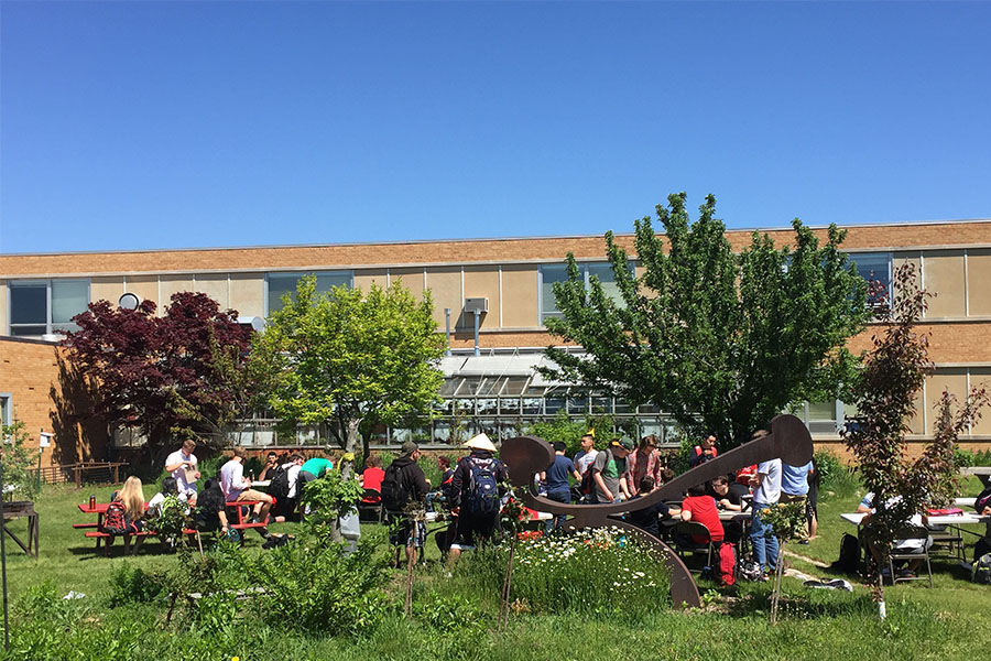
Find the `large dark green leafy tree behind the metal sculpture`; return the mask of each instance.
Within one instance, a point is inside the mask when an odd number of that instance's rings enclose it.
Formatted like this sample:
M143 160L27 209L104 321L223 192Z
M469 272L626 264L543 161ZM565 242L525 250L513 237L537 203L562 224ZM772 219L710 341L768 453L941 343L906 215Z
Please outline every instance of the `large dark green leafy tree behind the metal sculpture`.
M568 279L554 285L563 317L547 328L591 359L546 353L558 377L652 402L688 431L736 445L791 402L831 399L852 383L857 359L845 344L870 317L867 285L839 251L845 232L836 226L820 246L796 219L793 246L754 232L734 254L715 197L694 223L685 201L680 193L668 196L669 208L657 206L663 236L649 217L635 223L639 278L606 234L618 297L597 278L586 290L568 254Z

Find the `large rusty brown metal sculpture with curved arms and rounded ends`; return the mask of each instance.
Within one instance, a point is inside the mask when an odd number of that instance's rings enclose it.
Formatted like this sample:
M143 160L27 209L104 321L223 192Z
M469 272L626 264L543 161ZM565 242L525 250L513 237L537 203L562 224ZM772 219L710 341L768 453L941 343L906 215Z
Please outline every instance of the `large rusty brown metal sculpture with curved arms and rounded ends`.
M554 463L554 449L543 438L518 436L502 443L500 456L509 467L510 481L523 488L526 507L552 514L566 514L566 525L571 529L614 525L638 537L661 552L671 570L671 597L675 605L701 606L698 586L682 559L663 541L643 530L611 516L647 508L662 500L678 499L688 487L701 484L731 470L780 458L786 464L802 466L813 456L812 436L801 420L794 415L778 415L771 421L771 433L744 443L715 459L691 468L661 486L649 496L628 502L610 505L565 505L533 492L534 476Z

